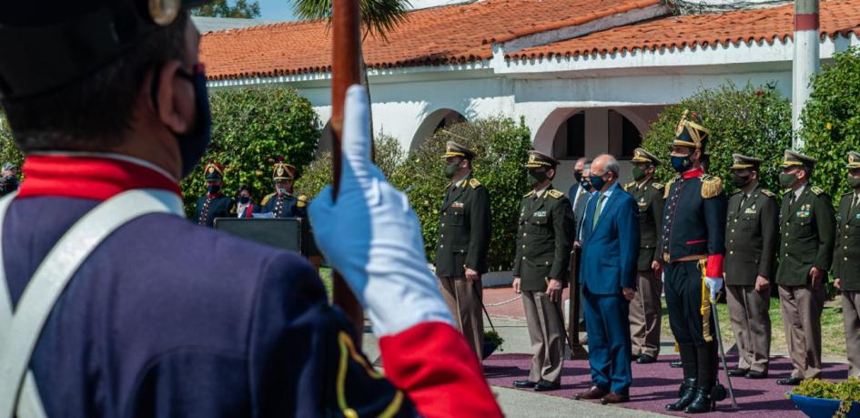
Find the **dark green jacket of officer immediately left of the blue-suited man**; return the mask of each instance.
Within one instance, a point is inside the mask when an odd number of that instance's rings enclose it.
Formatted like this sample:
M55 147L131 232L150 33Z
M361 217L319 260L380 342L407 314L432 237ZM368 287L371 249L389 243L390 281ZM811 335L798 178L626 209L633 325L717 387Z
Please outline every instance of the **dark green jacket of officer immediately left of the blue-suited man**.
M513 277L521 291L546 291L550 279L567 280L573 239L571 201L559 190L534 190L522 198Z

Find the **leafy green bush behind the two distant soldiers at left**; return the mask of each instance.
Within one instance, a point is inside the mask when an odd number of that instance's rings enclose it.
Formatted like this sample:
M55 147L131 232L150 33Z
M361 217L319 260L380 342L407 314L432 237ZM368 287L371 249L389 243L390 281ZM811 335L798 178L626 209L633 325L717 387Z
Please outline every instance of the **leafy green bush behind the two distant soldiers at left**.
M271 189L272 165L284 157L298 173L309 164L319 143L319 118L308 99L292 88L239 88L213 92L212 144L203 163L182 181L186 211L194 213L206 191L208 161L223 164L225 192L248 183L259 200Z

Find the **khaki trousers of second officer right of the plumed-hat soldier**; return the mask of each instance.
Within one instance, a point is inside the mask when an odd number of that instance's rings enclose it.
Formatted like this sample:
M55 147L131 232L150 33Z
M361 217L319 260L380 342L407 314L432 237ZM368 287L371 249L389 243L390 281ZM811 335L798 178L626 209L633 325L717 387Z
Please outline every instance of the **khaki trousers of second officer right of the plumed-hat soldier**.
M825 286L779 286L785 340L794 371L792 377L815 379L821 376L821 311L825 307Z

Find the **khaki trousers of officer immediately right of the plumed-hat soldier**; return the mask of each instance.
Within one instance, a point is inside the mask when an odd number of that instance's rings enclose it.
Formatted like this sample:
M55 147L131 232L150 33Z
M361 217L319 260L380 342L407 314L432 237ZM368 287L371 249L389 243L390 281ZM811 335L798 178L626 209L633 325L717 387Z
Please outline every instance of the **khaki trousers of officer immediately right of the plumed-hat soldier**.
M729 319L738 348L738 369L767 372L771 353L770 290L726 286Z

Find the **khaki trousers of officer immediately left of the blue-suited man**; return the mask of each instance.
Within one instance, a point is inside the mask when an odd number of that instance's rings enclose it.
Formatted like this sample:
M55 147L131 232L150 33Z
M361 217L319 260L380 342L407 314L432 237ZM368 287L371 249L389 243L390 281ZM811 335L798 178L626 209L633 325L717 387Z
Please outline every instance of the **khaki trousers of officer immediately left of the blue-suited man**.
M526 325L531 339L531 372L529 380L561 382L564 359L564 324L562 303L553 302L543 291L523 291Z

